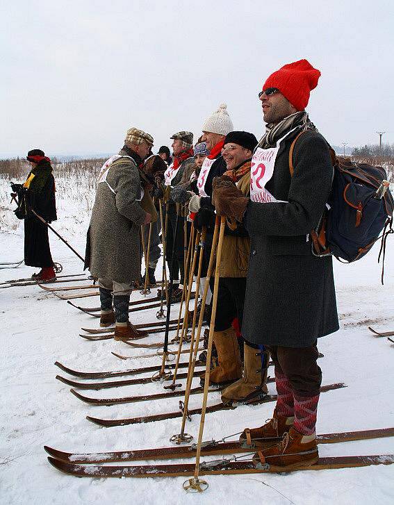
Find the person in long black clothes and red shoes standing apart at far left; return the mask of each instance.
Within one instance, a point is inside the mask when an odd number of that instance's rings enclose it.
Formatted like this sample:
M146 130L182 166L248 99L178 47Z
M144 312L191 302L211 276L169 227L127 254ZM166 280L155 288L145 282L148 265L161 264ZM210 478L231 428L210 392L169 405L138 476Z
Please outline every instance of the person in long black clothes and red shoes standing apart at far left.
M54 261L49 247L48 226L31 213L35 210L48 223L56 221L55 179L51 160L41 149L32 149L26 156L31 165L26 182L19 187L19 206L15 214L24 219L24 263L28 267L40 267L35 281L56 279Z

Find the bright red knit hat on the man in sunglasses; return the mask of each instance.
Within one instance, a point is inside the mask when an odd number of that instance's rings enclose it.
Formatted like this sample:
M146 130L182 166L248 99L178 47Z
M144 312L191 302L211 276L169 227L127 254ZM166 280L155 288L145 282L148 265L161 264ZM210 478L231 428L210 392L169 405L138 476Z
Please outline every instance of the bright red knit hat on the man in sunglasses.
M309 102L309 93L318 85L320 75L309 61L295 61L271 74L265 81L263 90L278 88L293 107L304 110Z

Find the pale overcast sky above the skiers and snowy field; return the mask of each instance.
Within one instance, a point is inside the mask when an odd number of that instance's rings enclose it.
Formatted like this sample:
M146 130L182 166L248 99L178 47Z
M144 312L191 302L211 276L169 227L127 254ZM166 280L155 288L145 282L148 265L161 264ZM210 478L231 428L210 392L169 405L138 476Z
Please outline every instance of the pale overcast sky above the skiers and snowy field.
M0 157L154 152L220 103L263 133L257 93L286 63L322 76L306 110L331 144L394 143L394 2L0 0Z

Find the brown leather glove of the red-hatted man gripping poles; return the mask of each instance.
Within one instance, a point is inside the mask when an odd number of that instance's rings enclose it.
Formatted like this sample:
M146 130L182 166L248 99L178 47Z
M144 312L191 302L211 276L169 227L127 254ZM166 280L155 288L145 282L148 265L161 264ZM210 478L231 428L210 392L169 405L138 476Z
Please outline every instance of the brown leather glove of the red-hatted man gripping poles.
M217 214L225 217L234 217L237 221L242 222L247 204L249 203L249 197L245 197L245 194L241 190L238 190L235 183L227 178L220 179L219 177L215 177L212 188L212 203L216 208Z

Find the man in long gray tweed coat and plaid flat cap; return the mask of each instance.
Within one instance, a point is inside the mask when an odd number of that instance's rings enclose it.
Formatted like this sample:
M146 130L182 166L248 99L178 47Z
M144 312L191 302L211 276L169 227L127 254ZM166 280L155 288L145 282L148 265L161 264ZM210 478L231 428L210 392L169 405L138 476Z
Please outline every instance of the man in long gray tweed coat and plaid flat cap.
M129 321L129 301L133 282L140 281L140 226L151 221L139 167L153 142L142 130L127 131L120 153L104 163L90 220L85 267L99 279L100 326L115 322L115 340L148 334Z

